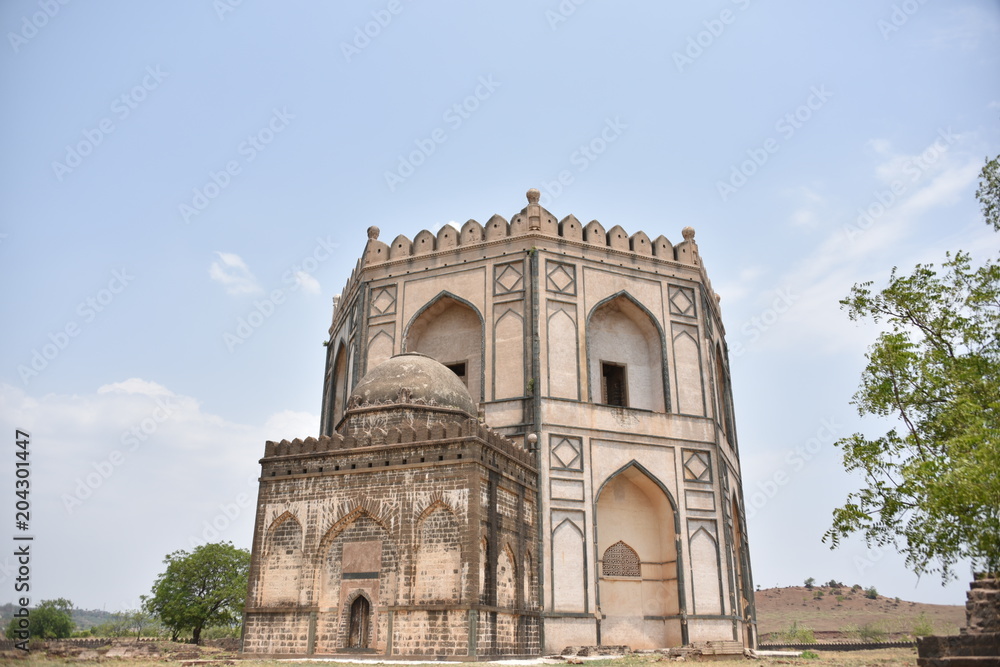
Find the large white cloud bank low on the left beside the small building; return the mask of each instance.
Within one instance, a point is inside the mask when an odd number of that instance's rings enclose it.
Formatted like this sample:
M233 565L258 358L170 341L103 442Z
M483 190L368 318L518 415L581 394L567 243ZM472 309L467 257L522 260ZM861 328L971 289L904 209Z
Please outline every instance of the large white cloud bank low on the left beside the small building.
M33 588L37 597L125 609L149 592L166 554L220 540L249 547L265 441L315 436L319 416L285 411L241 424L206 413L194 397L129 378L37 396L0 383L0 427L31 435L41 489L32 529L52 547L37 554L36 567L49 573ZM92 576L61 567L67 550ZM0 556L0 586L11 572L16 564L12 570ZM106 583L95 589L93 580Z

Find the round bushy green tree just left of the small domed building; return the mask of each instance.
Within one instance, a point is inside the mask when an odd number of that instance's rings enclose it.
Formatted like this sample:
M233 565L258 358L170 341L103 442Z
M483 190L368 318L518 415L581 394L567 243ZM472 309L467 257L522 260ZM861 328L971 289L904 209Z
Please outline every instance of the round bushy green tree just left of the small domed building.
M243 612L250 572L250 552L229 542L204 544L194 551L175 551L163 562L145 609L170 629L173 639L190 630L200 643L210 625L232 625Z

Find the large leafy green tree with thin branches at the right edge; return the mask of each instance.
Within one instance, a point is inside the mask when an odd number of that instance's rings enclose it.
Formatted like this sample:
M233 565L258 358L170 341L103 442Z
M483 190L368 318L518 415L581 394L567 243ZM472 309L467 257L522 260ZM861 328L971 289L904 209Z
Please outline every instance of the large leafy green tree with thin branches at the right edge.
M994 225L997 169L997 159L987 164L977 192ZM866 486L834 510L824 541L836 547L862 533L942 582L961 559L1000 571L1000 264L973 267L967 253L949 253L940 272L893 269L883 290L861 283L841 304L852 320L888 325L868 351L853 403L895 426L836 443Z

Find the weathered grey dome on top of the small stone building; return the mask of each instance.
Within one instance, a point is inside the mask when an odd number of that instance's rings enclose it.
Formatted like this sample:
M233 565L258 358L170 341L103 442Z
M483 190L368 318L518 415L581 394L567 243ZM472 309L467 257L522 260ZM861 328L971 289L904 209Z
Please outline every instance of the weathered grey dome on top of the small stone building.
M469 390L457 375L417 352L397 354L368 371L354 387L351 404L396 403L404 390L410 396L406 402L462 410L470 417L478 412Z

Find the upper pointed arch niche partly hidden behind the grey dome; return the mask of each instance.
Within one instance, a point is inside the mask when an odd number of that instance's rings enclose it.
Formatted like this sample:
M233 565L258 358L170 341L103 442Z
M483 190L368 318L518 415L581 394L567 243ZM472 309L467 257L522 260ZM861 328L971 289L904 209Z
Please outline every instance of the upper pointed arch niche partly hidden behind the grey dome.
M486 322L471 302L442 290L418 310L403 333L403 352L420 352L446 366L465 364L472 400L483 400ZM454 370L454 368L453 368Z

